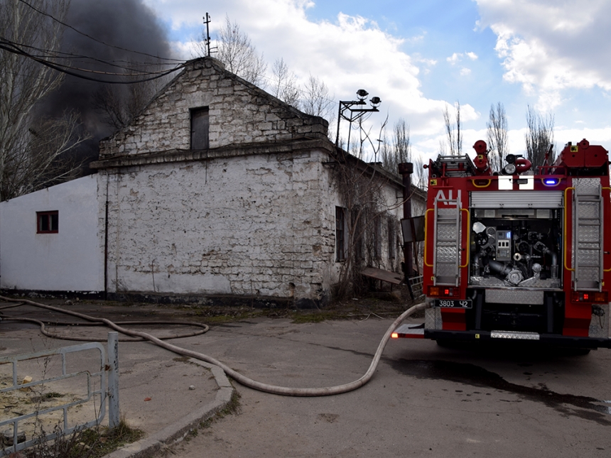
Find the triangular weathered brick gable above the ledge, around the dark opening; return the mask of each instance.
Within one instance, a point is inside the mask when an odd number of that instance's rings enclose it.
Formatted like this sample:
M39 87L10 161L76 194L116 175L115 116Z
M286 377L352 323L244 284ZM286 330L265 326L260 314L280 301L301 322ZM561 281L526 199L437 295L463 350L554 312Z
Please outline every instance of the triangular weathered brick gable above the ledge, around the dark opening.
M288 107L203 58L190 62L130 126L100 142L100 158L189 149L189 110L200 107L210 109L210 148L327 135L324 119Z

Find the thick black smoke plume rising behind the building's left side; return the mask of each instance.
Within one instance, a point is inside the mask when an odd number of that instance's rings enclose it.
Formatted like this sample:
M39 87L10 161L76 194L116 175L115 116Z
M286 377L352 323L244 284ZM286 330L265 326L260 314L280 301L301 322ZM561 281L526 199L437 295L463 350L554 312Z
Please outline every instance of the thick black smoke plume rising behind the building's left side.
M129 50L160 58L172 57L166 30L153 10L141 0L72 0L65 23L96 40L117 47L104 45L66 28L62 51L71 55L90 56L126 67L154 61L151 57L132 53ZM83 58L69 58L66 63L100 72L125 71ZM121 80L102 74L89 76L100 80ZM102 91L104 86L107 85L102 82L65 75L63 84L50 94L40 107L40 114L50 117L62 116L66 111L78 111L82 126L92 136L90 141L80 146L79 151L75 153L85 162L97 158L99 141L113 133L112 127L104 122L104 115L94 107L94 96ZM119 89L119 92L121 90Z

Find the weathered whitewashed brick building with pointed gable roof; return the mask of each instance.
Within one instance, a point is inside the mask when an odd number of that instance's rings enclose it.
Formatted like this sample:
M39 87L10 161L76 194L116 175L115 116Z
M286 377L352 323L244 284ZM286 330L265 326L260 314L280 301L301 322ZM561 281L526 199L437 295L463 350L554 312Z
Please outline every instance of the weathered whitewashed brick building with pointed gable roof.
M347 192L334 178L346 164L327 128L215 59L190 62L130 126L100 143L91 203L103 289L324 304L341 266L336 215ZM401 182L349 162L379 183L388 230L376 231L373 261L399 271ZM19 289L1 268L2 288Z

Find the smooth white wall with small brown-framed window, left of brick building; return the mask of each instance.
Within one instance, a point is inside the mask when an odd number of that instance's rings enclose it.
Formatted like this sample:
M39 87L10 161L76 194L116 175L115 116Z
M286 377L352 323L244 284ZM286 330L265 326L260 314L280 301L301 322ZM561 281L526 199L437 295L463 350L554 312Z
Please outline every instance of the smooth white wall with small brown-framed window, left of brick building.
M104 290L97 176L0 203L0 288ZM57 234L36 233L36 212L58 210Z

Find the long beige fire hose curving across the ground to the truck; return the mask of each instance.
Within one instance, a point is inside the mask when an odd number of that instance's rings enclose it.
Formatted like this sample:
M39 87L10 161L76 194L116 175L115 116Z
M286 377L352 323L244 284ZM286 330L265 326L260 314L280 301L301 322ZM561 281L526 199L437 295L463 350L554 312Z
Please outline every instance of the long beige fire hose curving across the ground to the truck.
M215 364L215 366L219 366L223 371L225 371L225 374L227 374L227 376L233 378L235 381L237 381L238 383L244 386L253 388L258 391L263 391L264 393L279 394L283 396L331 396L335 394L341 394L341 393L347 393L349 391L354 391L357 388L364 386L364 384L367 383L374 375L374 372L377 369L377 366L379 364L379 360L382 357L382 351L384 351L384 347L386 347L386 343L389 341L394 329L396 329L396 327L399 326L399 324L401 324L402 321L404 321L410 315L413 315L413 313L415 313L416 311L423 310L424 308L426 308L426 304L424 302L413 305L408 310L406 310L401 315L399 315L399 317L397 317L396 320L394 320L394 322L386 330L384 337L382 337L382 341L378 345L378 348L374 354L372 362L371 364L369 364L369 369L367 369L367 372L365 372L365 374L358 380L352 381L350 383L345 383L344 385L328 386L324 388L291 388L291 387L286 387L286 386L269 385L268 383L261 383L259 381L255 381L252 378L239 374L239 372L234 371L229 366L227 366L227 364L224 364L221 361L217 361L217 359L214 359L211 356L207 356L205 354L199 353L198 351L183 349L181 347L178 347L177 345L169 344L168 342L163 342L162 339L155 337L151 334L147 334L146 332L139 332L139 331L134 331L131 329L126 329L124 327L119 326L117 323L114 323L105 318L91 317L90 315L85 315L84 313L73 312L72 310L65 310L60 307L53 307L53 305L41 304L39 302L34 302L32 300L12 299L12 298L5 298L3 296L0 296L0 300L4 300L6 302L21 302L22 304L29 304L29 305L33 305L34 307L40 307L40 308L44 308L47 310L53 310L54 312L60 312L60 313L65 313L67 315L79 317L82 320L87 320L88 322L103 323L104 325L107 325L107 327L110 327L111 329L114 329L117 332L121 332L121 334L125 334L131 337L140 337L141 339L145 339L145 340L148 340L149 342L153 342L153 344L156 344L161 348L164 348L169 351L173 351L176 354L180 354L182 356L188 356L194 359L199 359L200 361L205 361L210 364ZM42 325L41 329L43 330L43 334L45 334L43 322L40 322L38 320L28 319L28 318L12 318L12 320L38 322L38 324ZM128 324L129 325L134 325L134 324L148 325L151 323L160 324L161 322L137 322L137 323L136 322L122 322L122 324L125 324L125 325L128 325ZM168 323L168 322L164 322L164 323ZM172 324L185 324L185 322L171 322L171 323ZM188 322L188 324L196 325L196 326L198 325L197 323L192 323L192 322ZM205 325L200 325L200 327L201 326L205 326ZM205 330L197 331L195 334L202 334L203 332L206 332L206 331L207 331L207 326ZM50 337L57 337L57 336L54 336L53 334L48 334L48 333L45 335L48 335ZM180 336L180 337L183 337L183 336ZM64 339L64 337L61 337L61 338Z

